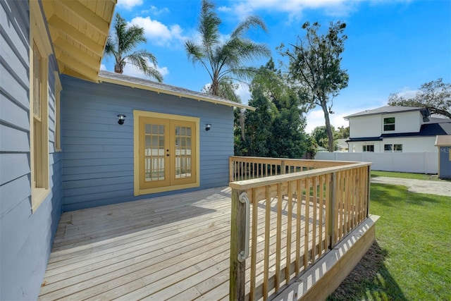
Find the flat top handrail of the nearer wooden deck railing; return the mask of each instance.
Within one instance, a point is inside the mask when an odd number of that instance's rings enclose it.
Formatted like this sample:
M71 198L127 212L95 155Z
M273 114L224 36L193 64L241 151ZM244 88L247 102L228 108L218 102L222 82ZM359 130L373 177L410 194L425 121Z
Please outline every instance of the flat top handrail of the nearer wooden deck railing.
M265 178L254 178L249 180L234 181L230 182L228 185L230 186L230 188L238 190L247 190L250 188L257 188L264 185L283 183L290 180L299 180L302 178L309 178L311 176L320 176L327 173L335 173L338 171L345 171L347 169L370 166L371 164L372 164L371 162L359 162L359 163L352 162L352 164L342 166L318 168L312 169L310 171L297 171L295 173L285 173L283 175L267 176Z

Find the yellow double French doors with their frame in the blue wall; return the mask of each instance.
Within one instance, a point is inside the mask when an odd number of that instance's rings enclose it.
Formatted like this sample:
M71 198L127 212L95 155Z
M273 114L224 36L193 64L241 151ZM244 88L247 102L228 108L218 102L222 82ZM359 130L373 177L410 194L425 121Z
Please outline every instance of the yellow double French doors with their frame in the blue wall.
M135 195L199 187L199 118L133 111Z

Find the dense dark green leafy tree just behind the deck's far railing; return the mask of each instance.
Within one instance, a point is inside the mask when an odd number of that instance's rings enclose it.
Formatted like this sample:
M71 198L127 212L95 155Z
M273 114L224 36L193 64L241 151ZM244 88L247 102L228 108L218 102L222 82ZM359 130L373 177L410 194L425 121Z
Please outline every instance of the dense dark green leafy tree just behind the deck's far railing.
M235 124L235 154L301 158L309 147L302 92L288 84L271 59L252 80L251 94L249 105L256 111L246 112L246 140Z

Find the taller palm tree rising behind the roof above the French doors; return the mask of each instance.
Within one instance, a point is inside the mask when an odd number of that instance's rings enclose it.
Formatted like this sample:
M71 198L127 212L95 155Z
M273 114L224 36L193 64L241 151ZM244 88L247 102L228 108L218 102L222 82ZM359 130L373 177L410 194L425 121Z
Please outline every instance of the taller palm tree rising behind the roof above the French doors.
M256 68L242 66L242 63L270 56L271 51L264 44L257 44L244 37L247 30L260 27L267 32L264 22L256 17L249 16L239 23L230 37L222 42L219 33L221 19L214 11L214 4L202 0L199 17L199 32L201 44L187 41L185 49L192 63L199 63L207 70L211 78L209 93L226 97L224 87L233 80L247 80L257 71ZM224 91L225 92L225 91Z

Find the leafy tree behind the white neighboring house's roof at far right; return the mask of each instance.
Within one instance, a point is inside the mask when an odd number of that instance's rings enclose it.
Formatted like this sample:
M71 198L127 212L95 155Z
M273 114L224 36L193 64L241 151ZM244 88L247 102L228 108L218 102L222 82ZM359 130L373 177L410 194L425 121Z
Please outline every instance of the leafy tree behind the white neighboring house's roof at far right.
M399 94L390 94L390 106L419 106L428 108L431 113L451 118L451 84L443 82L442 78L421 85L412 98Z

